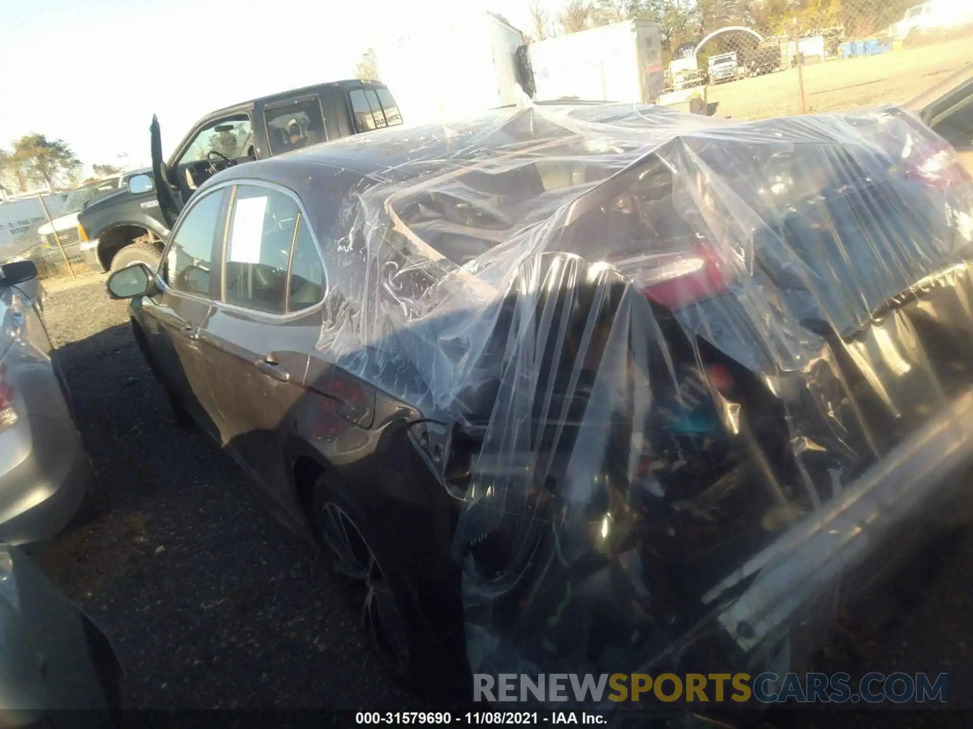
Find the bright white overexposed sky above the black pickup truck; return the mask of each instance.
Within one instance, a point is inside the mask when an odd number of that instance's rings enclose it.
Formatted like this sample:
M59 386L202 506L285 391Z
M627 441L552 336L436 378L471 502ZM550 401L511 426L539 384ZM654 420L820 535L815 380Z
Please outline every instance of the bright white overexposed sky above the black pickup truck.
M0 147L36 131L86 168L148 164L153 114L167 156L204 114L351 78L369 46L456 3L529 26L528 0L0 0Z

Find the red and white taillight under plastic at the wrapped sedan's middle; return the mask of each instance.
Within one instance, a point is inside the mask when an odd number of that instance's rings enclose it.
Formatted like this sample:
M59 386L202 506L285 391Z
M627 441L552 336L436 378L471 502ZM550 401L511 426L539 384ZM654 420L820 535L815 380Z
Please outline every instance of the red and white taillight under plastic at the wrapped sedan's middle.
M652 271L642 293L670 309L726 294L733 281L723 261L709 246L698 243L693 252L673 256Z

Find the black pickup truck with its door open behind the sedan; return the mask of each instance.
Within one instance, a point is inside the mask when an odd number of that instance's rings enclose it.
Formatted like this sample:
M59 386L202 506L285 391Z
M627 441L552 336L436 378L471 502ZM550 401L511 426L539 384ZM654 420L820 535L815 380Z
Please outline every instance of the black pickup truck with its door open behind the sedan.
M165 163L153 120L153 176L137 175L126 190L90 203L78 216L85 260L97 271L134 262L152 267L162 256L169 225L156 189L189 199L207 178L232 164L282 155L308 145L402 123L388 88L374 81L337 81L244 101L208 114ZM156 178L154 180L154 178ZM164 205L169 190L160 197Z

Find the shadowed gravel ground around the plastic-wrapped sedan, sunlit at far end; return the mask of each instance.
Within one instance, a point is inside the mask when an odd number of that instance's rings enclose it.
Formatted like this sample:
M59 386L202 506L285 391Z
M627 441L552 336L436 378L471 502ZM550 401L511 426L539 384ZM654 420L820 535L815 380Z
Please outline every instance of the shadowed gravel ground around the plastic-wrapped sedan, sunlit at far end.
M101 280L85 282L50 295L47 321L112 509L54 541L38 562L116 642L126 706L414 703L381 673L325 561L267 515L215 443L173 424L125 304L108 300ZM951 706L973 707L971 573L969 533L920 552L842 619L818 669L948 672ZM867 718L938 723L933 714L895 713Z

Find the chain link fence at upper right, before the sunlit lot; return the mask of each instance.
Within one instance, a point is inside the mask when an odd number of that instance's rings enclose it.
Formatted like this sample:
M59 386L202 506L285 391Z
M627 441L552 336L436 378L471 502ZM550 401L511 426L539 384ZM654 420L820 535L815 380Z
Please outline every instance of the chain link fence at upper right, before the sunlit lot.
M700 0L693 12L656 18L667 92L698 87L721 117L901 104L973 62L973 0Z

